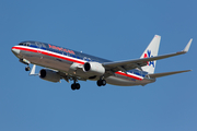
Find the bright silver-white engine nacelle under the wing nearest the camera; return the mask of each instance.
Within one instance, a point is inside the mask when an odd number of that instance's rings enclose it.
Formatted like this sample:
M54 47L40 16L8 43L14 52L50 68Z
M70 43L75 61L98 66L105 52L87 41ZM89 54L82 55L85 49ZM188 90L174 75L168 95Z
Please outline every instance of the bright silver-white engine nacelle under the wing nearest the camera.
M99 62L85 62L83 71L89 75L103 75L105 73L105 68Z

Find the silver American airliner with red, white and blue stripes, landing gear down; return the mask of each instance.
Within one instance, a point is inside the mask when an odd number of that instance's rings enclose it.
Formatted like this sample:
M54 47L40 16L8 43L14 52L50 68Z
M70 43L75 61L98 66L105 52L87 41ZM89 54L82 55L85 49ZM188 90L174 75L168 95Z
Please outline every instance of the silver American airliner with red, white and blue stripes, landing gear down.
M158 56L161 36L154 35L139 59L111 61L86 55L72 49L45 44L40 41L22 41L11 48L20 62L27 64L25 71L33 68L30 75L39 75L49 82L73 81L71 90L80 90L78 81L96 81L97 86L106 84L118 86L147 85L155 82L157 78L188 72L192 70L154 73L157 60L186 53L193 38L184 50ZM36 66L44 67L38 74Z

